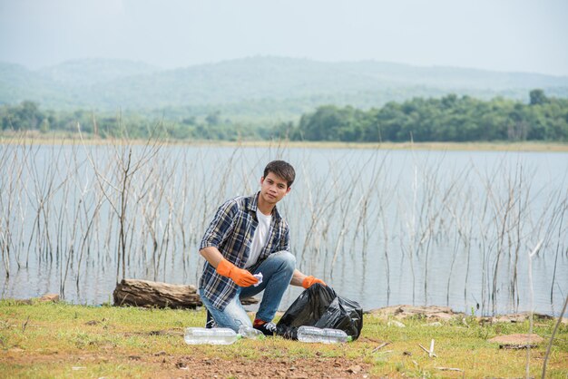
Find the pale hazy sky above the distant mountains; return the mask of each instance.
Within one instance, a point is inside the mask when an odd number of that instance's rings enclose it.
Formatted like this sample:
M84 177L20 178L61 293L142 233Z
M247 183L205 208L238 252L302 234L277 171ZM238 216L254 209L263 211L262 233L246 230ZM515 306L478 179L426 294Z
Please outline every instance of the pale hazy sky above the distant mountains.
M250 56L568 76L568 0L0 0L0 61Z

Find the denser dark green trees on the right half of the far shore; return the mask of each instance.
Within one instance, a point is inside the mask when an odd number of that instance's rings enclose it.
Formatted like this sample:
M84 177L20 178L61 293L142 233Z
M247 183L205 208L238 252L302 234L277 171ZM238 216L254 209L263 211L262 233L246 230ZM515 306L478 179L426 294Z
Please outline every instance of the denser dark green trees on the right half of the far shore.
M308 141L568 141L568 99L533 90L528 103L448 94L370 111L328 105L289 133Z

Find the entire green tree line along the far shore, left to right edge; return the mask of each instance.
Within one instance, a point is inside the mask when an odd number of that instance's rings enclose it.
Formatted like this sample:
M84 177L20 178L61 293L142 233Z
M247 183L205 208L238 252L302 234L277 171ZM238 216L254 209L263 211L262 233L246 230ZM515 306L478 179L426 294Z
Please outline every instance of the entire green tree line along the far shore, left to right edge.
M529 102L502 97L490 101L448 94L387 102L379 109L319 106L299 121L276 125L232 121L220 112L156 120L135 112L98 115L43 111L35 102L0 106L3 131L37 130L85 133L100 137L127 134L146 138L160 134L177 140L290 141L568 141L568 99L529 93Z

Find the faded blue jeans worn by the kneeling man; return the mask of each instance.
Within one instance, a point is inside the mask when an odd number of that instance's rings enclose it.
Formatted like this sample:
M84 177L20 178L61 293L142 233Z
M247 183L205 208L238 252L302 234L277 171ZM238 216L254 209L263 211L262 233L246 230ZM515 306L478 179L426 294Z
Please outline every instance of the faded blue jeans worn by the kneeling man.
M286 291L292 279L295 267L296 257L288 251L270 254L252 271L253 274L262 273L262 283L257 287L238 287L237 296L230 300L224 310L221 311L212 306L211 300L203 296L202 288L200 288L201 301L211 312L217 326L229 327L234 331L239 331L240 326L252 326L249 315L240 304L240 297L255 296L264 291L256 318L267 322L272 321L280 305L280 300L284 296L284 291Z

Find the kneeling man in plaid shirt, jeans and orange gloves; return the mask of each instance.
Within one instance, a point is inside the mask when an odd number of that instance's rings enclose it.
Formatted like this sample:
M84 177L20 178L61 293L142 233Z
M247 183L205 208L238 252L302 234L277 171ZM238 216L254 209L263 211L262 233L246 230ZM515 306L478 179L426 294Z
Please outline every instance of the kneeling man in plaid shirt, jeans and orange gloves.
M289 226L276 209L291 190L295 177L289 163L273 160L260 178L259 192L230 199L217 210L200 247L206 259L200 296L208 309L208 326L213 321L216 326L235 331L240 326L251 326L240 297L264 291L252 326L265 335L274 335L276 326L271 321L289 284L304 288L315 283L325 285L295 268Z

